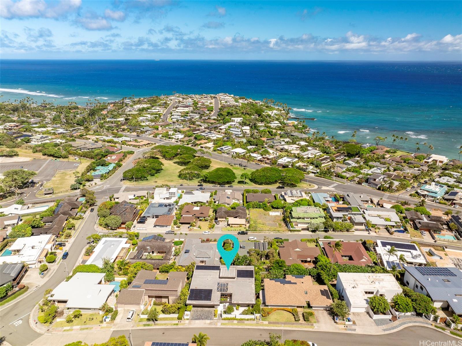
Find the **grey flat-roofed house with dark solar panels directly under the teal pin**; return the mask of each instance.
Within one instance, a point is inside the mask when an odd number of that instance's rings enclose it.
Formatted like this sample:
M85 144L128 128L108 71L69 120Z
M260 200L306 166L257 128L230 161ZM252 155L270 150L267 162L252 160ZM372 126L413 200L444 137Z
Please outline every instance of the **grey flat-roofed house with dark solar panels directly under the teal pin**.
M220 304L247 306L255 304L255 273L253 266L196 265L188 305L215 307Z

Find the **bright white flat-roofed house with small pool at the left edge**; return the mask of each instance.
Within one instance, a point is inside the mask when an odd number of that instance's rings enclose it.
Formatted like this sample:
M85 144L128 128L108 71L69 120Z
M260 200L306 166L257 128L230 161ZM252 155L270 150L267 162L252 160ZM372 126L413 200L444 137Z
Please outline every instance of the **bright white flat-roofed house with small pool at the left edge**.
M53 249L54 239L52 234L18 238L0 256L0 263L23 262L30 268L39 267L45 263L45 257Z

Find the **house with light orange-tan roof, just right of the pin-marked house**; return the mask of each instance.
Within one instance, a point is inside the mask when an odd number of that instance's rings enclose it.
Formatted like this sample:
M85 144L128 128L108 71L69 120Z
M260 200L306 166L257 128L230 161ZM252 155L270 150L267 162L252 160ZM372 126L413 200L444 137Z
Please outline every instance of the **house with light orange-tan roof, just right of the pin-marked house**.
M263 279L262 303L270 307L327 310L332 297L326 285L315 285L307 275L286 275L285 279Z

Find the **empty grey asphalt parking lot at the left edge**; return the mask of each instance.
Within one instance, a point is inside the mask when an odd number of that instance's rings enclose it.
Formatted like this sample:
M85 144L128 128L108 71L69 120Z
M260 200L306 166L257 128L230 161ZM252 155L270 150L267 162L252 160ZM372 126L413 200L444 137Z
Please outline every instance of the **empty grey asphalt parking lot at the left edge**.
M74 166L74 164L76 163L79 164L78 161L73 159L69 159L69 161L67 161L67 159L60 159L59 161L42 159L34 159L32 161L18 161L1 164L0 173L6 170L32 170L34 172L38 172L34 177L35 181L49 181L58 170L75 169L76 166Z

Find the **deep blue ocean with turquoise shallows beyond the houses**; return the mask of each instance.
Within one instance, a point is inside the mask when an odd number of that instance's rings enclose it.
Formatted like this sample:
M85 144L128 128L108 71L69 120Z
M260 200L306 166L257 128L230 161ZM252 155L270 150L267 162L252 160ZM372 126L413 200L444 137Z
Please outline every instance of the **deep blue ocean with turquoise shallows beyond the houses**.
M1 60L0 91L1 100L60 104L227 92L287 103L292 114L316 118L311 128L342 140L354 130L371 143L395 134L408 138L403 149L427 142L451 158L462 145L461 62Z

